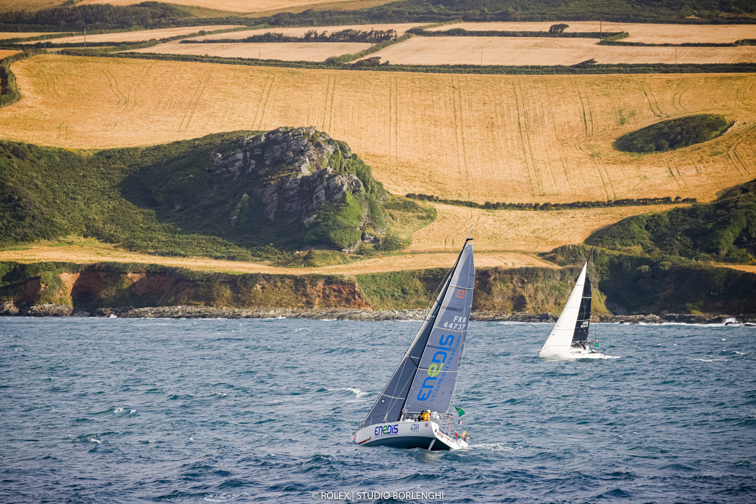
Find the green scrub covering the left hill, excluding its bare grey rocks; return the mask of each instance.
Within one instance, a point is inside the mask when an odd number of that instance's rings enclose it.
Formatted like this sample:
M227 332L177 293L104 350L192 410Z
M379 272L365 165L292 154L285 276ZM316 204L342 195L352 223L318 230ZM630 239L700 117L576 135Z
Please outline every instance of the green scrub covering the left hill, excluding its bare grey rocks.
M283 211L266 218L257 194L289 167L234 181L208 170L215 153L239 152L248 133L81 152L0 141L0 242L85 236L156 255L285 261L305 243L346 248L363 231L386 233L383 186L358 156L339 150L328 162L335 174L359 178L359 193L321 207L312 227Z

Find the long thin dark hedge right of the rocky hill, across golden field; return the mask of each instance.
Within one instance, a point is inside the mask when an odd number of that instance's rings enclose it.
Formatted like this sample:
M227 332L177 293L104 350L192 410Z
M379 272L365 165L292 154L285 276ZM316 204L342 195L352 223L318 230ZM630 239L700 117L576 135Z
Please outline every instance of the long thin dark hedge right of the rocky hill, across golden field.
M567 209L598 209L612 206L646 206L646 205L671 205L696 203L696 198L682 198L670 196L664 198L624 198L614 199L612 201L575 201L573 203L476 203L474 201L465 201L464 199L442 199L430 194L407 194L407 198L420 199L421 201L432 201L435 203L444 203L445 205L467 206L472 209L482 210L567 210Z

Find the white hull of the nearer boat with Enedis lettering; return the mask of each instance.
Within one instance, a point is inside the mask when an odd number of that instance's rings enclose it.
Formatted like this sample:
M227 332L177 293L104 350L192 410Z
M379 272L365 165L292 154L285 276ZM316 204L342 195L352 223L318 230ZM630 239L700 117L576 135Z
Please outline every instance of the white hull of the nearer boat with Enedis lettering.
M445 434L436 422L401 422L368 425L352 438L364 447L425 448L426 450L458 450L466 448L467 442Z

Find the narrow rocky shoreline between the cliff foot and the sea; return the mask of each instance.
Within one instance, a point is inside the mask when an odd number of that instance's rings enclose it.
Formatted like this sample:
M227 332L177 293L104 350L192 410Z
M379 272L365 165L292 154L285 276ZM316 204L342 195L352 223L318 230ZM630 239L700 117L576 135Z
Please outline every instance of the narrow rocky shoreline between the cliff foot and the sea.
M311 320L423 320L426 310L364 310L349 308L209 308L199 306L161 306L153 308L97 308L94 311L73 309L68 305L33 305L16 307L13 303L0 305L0 315L21 317L122 317L122 318L187 318L187 319L242 319L242 318L296 318ZM499 314L487 311L473 311L472 320L489 322L543 322L554 323L555 314ZM599 323L738 323L756 326L754 315L720 314L635 314L600 315L593 317Z

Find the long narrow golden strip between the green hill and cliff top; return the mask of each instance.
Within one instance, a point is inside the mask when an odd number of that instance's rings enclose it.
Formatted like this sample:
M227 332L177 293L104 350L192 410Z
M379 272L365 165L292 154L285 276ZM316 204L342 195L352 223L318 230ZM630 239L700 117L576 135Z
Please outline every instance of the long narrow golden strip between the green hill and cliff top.
M430 254L392 255L383 258L367 259L350 264L337 264L327 267L275 267L244 261L216 261L208 258L159 257L116 249L112 245L97 243L94 246L33 246L26 250L7 250L0 252L0 261L18 261L23 263L38 261L71 261L79 264L100 261L136 262L142 264L165 264L166 266L187 267L197 271L218 271L234 273L270 273L270 274L341 274L356 275L365 273L384 273L386 271L422 270L429 267L451 267L457 259L458 252ZM517 252L484 252L476 254L476 267L556 267L533 255Z

